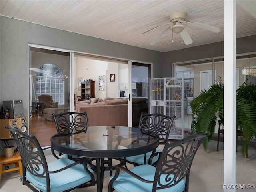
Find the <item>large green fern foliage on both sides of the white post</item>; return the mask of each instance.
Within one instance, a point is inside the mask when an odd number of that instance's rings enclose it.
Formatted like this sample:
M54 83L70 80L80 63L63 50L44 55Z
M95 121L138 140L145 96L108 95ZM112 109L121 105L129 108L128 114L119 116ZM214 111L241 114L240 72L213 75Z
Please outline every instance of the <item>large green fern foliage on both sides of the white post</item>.
M256 86L246 82L236 90L236 124L245 138L242 147L243 156L246 148L250 146L250 141L256 140ZM206 150L214 134L217 118L224 118L224 86L220 77L207 91L202 91L194 98L190 105L193 116L192 133L202 134L205 131L211 133L203 142Z

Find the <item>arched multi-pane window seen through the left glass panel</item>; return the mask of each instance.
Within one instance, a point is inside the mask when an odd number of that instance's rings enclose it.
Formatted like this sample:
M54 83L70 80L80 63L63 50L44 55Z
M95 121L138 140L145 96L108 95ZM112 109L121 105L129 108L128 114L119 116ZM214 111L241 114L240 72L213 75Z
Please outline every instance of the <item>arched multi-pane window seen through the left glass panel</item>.
M36 73L36 99L39 95L51 95L58 105L64 104L64 81L58 76L63 75L62 70L55 64L46 63L40 66Z

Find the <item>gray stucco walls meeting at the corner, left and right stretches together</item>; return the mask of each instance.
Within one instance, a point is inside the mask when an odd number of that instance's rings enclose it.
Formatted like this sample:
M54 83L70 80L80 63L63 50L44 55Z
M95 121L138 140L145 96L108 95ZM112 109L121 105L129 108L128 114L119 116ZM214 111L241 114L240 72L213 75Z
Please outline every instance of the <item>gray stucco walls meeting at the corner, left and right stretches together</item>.
M172 63L223 56L223 42L156 52L0 16L0 104L23 100L28 116L28 43L153 64L153 77L170 77ZM256 35L239 38L237 53L256 51Z

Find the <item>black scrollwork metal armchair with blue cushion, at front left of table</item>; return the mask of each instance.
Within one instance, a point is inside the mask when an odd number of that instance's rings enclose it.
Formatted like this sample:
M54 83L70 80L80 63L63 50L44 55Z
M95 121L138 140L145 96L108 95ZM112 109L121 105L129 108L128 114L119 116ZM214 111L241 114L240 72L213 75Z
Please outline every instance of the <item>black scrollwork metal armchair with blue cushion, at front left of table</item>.
M93 171L83 159L74 162L68 158L60 158L46 162L44 152L34 135L11 128L6 125L14 138L22 160L22 184L34 192L71 191L87 182L94 185ZM83 164L81 164L83 163Z

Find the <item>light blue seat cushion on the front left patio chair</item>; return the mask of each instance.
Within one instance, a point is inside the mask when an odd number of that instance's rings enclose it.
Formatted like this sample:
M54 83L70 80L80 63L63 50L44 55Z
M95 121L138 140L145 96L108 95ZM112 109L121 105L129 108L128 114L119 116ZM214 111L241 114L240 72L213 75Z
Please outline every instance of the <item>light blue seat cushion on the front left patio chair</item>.
M64 168L70 164L74 163L74 161L68 158L60 158L53 162L48 163L48 170L54 171L60 168ZM93 171L88 168L90 172ZM42 169L41 169L42 170ZM40 167L39 167L40 172ZM42 172L42 171L41 171ZM31 182L36 188L41 191L46 191L46 179L35 177L30 172L26 172L26 178L29 182ZM50 174L50 191L51 192L62 192L76 186L79 186L83 183L86 183L91 180L90 175L84 170L84 166L82 164L77 164L68 168L64 171Z

